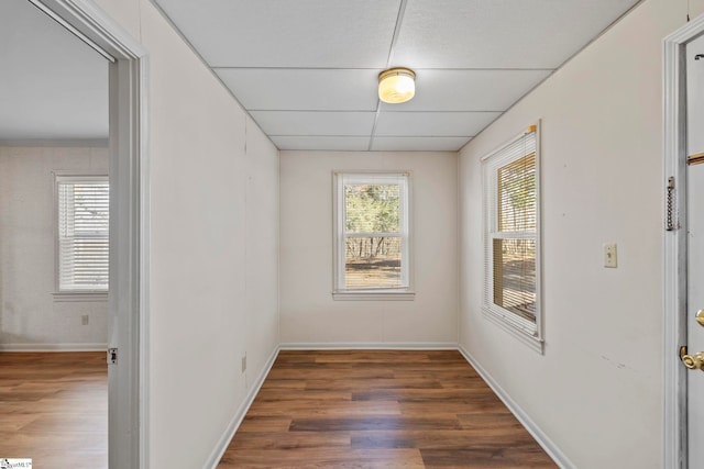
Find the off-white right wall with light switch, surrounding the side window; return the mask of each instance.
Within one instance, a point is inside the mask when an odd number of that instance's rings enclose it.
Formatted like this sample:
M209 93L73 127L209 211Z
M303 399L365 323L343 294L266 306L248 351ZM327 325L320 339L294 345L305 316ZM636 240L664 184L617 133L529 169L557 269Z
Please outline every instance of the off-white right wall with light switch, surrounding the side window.
M461 345L583 469L661 466L661 46L685 13L644 2L461 152ZM480 158L539 118L544 356L482 316L479 230Z

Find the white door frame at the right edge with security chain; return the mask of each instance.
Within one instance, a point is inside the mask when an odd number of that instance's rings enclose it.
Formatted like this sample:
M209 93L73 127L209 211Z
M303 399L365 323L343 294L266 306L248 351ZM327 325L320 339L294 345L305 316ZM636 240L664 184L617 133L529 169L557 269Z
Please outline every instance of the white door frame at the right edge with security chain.
M663 467L688 467L686 368L678 351L686 345L686 57L685 44L704 32L704 15L689 22L663 42L663 194L668 178L672 192L673 230L663 241ZM668 213L667 197L663 213Z

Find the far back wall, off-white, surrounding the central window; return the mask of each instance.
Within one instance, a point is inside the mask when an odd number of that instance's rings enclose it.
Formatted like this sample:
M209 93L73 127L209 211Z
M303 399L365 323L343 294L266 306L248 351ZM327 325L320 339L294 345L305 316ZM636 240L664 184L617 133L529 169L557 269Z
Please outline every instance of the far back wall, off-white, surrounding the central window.
M280 334L295 344L457 344L457 154L282 152ZM332 300L332 172L411 171L415 301Z

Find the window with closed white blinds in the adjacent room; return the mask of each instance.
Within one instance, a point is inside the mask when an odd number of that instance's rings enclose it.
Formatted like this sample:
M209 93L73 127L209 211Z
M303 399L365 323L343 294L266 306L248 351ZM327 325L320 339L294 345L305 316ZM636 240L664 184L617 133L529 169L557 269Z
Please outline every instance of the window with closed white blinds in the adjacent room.
M58 292L108 291L107 176L56 176Z

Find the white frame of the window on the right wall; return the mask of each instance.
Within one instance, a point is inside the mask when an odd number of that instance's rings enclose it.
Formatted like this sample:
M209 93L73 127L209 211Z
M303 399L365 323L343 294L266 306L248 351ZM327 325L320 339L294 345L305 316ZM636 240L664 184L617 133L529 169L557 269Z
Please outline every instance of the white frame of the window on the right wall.
M497 194L497 177L498 170L507 165L524 158L530 153L521 152L517 156L507 153L512 145L522 138L526 138L535 132L535 159L536 159L536 231L535 235L530 232L519 232L516 236L507 236L498 232L498 194ZM543 314L542 314L542 237L541 237L541 177L540 177L540 121L527 127L525 132L516 135L497 149L488 153L481 158L482 163L482 212L483 227L482 242L484 249L484 271L483 271L483 292L482 292L482 312L486 320L498 325L534 350L542 354L544 349L543 334ZM494 291L494 253L493 243L497 238L520 238L535 239L535 263L536 263L536 301L535 301L535 323L522 317L520 314L502 308L494 303L490 292Z

